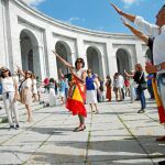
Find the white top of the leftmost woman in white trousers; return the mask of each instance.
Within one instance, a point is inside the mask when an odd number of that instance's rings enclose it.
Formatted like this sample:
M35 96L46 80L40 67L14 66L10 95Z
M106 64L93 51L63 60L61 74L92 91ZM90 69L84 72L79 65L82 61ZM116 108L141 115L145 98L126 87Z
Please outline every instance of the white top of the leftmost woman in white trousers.
M1 78L1 82L2 82L2 94L15 91L13 77Z

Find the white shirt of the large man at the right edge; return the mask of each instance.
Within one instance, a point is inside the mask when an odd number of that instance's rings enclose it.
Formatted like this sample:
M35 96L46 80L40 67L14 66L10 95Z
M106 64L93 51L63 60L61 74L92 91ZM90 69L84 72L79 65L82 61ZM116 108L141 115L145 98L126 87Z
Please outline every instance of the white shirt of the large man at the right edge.
M160 28L155 24L146 22L141 16L135 18L134 24L138 25L141 30L146 31L153 37L155 37L153 44L154 65L165 62L165 25ZM165 73L165 69L158 73Z

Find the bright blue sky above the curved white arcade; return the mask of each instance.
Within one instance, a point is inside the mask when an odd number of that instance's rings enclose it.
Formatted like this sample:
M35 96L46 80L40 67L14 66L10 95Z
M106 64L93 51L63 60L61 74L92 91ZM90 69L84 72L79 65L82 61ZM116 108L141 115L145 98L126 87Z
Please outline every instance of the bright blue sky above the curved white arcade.
M130 33L110 7L117 4L125 12L144 16L154 23L165 0L24 0L56 20L81 28L110 33Z

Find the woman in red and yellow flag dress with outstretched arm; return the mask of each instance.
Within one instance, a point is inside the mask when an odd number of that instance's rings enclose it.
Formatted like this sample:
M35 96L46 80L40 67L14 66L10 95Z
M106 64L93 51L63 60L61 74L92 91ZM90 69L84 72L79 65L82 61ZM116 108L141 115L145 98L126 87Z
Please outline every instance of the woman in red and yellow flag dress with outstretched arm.
M55 56L69 68L70 74L73 76L73 80L70 82L68 98L66 101L66 108L73 112L73 116L78 116L79 118L79 127L75 128L75 132L84 131L86 129L85 118L87 117L87 111L85 108L85 99L86 99L86 76L87 73L84 69L85 62L82 58L77 58L75 62L75 68L63 59L56 52L53 52Z

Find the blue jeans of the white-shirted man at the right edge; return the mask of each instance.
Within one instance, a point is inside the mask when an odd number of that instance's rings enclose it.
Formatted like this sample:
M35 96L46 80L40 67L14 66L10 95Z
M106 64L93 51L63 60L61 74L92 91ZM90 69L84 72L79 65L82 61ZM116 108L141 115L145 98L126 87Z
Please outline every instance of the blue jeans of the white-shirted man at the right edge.
M157 76L157 89L162 103L165 108L165 74L160 74Z

